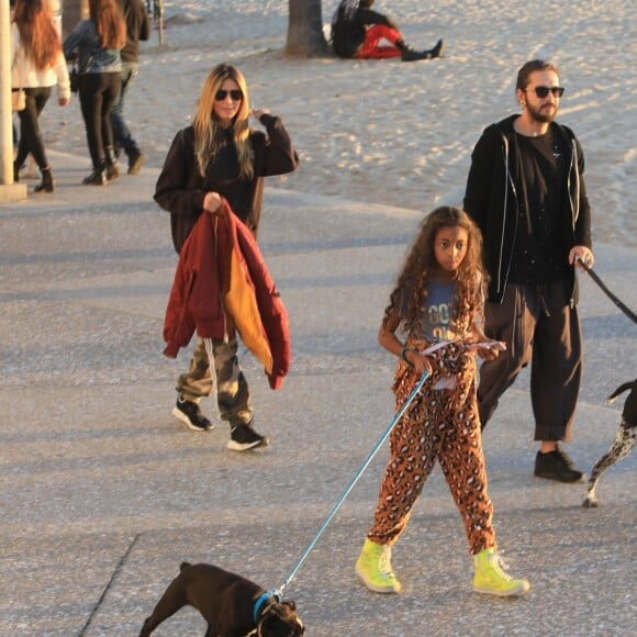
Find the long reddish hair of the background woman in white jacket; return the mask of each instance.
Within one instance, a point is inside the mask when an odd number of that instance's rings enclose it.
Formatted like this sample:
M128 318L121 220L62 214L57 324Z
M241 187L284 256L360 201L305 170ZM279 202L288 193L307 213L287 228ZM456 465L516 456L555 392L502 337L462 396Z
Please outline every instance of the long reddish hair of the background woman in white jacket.
M52 68L62 51L62 43L48 0L16 0L13 22L20 32L25 55L35 68Z

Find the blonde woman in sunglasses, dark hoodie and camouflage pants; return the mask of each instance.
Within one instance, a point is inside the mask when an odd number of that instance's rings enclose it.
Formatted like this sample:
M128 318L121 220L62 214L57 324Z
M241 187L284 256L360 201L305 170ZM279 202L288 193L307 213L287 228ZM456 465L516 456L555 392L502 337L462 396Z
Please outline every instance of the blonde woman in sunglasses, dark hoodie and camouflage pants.
M249 126L253 115L266 133ZM177 253L202 213L215 213L227 200L233 212L257 236L264 194L264 177L284 175L299 165L281 120L268 109L252 110L243 74L234 66L214 67L203 83L191 126L177 133L155 190L155 201L170 212L172 243ZM237 359L236 337L213 340L209 360L198 338L188 372L177 380L172 414L190 429L213 428L199 406L216 391L221 417L230 423L227 447L245 451L268 444L254 429L249 390Z

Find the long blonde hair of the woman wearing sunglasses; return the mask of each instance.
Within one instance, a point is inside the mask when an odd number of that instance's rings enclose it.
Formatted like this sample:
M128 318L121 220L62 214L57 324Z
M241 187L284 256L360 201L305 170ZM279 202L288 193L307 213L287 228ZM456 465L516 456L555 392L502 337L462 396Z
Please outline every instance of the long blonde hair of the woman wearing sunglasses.
M219 122L214 115L214 98L216 91L226 79L234 80L242 91L243 99L237 114L233 122L233 138L236 146L239 176L245 179L252 179L254 176L253 154L249 142L250 127L248 116L250 113L248 87L246 79L238 68L230 64L220 64L215 66L203 82L197 114L194 115L194 155L199 172L203 177L205 168L211 158L219 150Z

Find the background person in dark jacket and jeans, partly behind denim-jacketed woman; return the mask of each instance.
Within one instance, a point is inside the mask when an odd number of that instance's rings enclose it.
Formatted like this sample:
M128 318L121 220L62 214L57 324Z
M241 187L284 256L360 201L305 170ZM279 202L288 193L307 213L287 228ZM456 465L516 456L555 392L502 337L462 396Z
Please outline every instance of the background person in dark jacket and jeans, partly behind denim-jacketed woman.
M120 52L122 56L122 83L120 97L111 110L111 125L115 143L115 156L122 150L128 158L128 175L137 175L146 161L146 155L139 150L131 130L124 120L124 100L139 70L139 41L150 37L150 20L146 13L144 0L118 0L118 5L126 23L126 44Z

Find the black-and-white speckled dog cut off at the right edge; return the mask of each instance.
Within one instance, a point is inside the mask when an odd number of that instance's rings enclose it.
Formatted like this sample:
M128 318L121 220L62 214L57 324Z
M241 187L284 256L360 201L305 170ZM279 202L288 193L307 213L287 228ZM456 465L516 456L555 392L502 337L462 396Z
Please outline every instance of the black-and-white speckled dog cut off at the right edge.
M622 422L619 423L619 428L615 434L615 439L611 445L611 448L595 462L593 470L591 471L591 479L584 493L584 501L582 506L593 507L597 506L597 499L595 496L595 489L597 488L597 482L602 477L602 473L614 465L622 458L625 458L630 454L633 447L635 447L635 442L637 440L637 379L632 382L625 382L619 385L606 400L606 402L612 403L621 393L626 390L630 390L626 402L624 403L624 410L622 412Z

